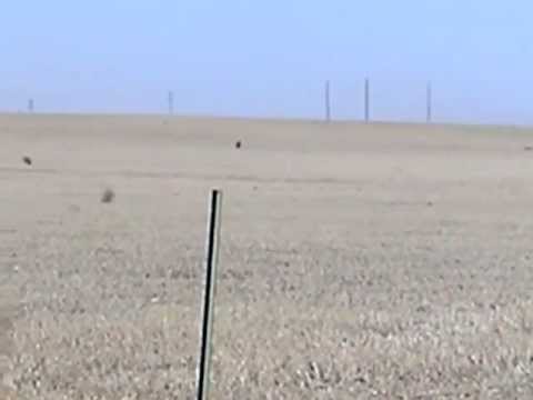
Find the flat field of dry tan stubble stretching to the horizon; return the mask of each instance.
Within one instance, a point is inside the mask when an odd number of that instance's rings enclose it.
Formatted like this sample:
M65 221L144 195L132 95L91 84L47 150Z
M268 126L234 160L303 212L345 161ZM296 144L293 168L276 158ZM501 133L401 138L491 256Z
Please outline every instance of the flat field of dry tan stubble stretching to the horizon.
M0 116L0 398L192 399L220 187L213 399L531 399L532 144Z

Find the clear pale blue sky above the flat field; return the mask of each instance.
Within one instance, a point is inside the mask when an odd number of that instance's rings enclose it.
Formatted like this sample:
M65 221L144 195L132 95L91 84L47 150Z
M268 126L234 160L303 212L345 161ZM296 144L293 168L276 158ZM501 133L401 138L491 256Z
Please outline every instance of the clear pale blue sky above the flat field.
M0 8L0 110L533 124L526 0L20 0Z

